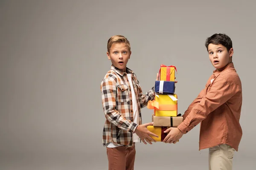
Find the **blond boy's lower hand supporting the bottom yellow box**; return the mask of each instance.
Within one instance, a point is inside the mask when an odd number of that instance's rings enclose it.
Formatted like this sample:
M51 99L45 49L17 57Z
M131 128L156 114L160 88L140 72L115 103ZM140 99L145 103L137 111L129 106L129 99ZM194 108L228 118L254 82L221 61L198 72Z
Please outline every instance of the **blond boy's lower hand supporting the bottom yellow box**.
M147 129L147 126L149 125L153 125L153 123L145 123L143 125L139 125L137 126L136 130L134 131L134 133L136 133L140 139L142 140L142 142L144 144L147 144L145 142L145 140L149 143L149 144L152 144L150 141L153 141L153 142L157 142L156 140L154 140L153 138L151 138L151 136L155 136L158 138L158 136L152 132L150 132L148 129ZM151 135L151 136L149 136Z

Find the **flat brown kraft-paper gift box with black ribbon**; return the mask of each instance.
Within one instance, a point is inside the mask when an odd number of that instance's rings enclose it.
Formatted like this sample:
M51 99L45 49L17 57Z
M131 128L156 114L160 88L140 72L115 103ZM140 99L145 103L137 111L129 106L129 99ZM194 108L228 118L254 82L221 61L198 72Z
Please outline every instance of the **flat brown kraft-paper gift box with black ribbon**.
M183 122L183 117L181 114L174 116L155 116L152 115L153 126L169 126L169 127L178 127L180 123Z

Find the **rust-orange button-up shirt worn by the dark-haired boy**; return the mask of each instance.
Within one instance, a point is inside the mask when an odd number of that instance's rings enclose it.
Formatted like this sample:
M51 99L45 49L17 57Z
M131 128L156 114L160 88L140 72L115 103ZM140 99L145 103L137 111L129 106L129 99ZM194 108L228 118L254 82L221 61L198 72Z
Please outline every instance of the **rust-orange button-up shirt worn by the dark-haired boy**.
M178 128L187 133L201 122L199 150L228 144L238 151L242 137L241 106L241 80L231 62L213 71L204 90L185 111Z

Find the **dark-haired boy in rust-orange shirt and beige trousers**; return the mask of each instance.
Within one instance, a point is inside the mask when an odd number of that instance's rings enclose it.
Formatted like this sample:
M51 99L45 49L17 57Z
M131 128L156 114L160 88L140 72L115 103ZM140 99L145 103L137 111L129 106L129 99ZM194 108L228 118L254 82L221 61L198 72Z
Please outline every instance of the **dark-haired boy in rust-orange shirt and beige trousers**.
M178 127L171 127L163 140L176 143L201 122L199 150L209 148L209 170L232 170L234 151L238 151L242 129L241 80L232 62L233 47L226 34L213 34L205 42L215 71L205 88L189 105Z

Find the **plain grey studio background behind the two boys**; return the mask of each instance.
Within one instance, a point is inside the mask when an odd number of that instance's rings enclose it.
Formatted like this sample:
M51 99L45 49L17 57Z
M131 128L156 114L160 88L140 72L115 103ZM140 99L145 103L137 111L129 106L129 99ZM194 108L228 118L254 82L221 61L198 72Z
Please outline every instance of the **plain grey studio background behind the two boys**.
M233 40L243 85L243 136L234 170L255 168L255 1L0 0L0 169L107 170L100 82L108 39L131 42L128 67L144 93L160 64L175 65L178 112L212 74L204 42ZM143 123L152 110L142 109ZM139 143L136 170L208 168L199 125L177 144ZM253 167L254 165L254 167Z

